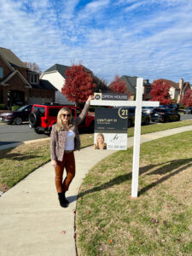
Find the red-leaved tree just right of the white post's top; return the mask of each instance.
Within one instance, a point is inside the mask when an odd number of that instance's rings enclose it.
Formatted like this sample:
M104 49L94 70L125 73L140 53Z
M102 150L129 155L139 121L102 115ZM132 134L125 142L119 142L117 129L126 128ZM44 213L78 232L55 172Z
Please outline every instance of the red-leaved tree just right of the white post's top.
M167 81L163 79L154 80L151 87L151 101L160 102L160 105L170 104L172 102L171 96L169 94L171 86Z

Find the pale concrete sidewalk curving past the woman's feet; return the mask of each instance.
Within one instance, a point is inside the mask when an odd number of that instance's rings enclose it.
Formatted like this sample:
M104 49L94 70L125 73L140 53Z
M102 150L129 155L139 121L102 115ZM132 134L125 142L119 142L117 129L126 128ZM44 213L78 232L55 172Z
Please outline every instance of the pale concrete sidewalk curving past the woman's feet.
M183 131L192 131L192 125L143 135L142 143ZM132 144L133 137L128 138L128 146ZM79 187L90 169L114 152L93 147L75 152L76 176L67 192L67 208L59 205L50 162L4 193L0 198L0 255L75 256L74 211Z

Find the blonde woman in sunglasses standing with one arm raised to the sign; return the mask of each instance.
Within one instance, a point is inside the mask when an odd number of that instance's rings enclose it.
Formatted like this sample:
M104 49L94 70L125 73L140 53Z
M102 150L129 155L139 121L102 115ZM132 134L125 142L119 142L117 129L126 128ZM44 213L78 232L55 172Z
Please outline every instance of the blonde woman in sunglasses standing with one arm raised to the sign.
M75 176L74 150L80 150L78 125L83 121L89 110L89 96L84 104L84 109L77 119L72 117L69 108L61 108L57 115L57 122L52 127L50 136L51 164L55 167L55 186L61 207L67 207L66 191ZM63 172L66 168L67 177L63 181Z

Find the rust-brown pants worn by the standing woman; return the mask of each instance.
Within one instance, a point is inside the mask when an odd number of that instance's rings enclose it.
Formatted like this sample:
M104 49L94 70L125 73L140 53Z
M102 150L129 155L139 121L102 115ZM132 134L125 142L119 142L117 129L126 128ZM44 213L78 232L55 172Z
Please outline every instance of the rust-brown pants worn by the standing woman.
M66 168L67 177L63 181L63 172ZM70 183L75 176L75 160L74 154L64 153L63 160L57 160L57 166L55 167L55 186L58 193L61 193L63 190L67 191Z

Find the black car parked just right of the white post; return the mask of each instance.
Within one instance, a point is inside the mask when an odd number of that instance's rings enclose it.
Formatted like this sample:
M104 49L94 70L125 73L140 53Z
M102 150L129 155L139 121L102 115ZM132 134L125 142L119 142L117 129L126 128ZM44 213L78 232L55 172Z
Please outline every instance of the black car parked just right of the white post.
M153 122L172 122L180 121L180 114L173 108L154 108L150 114Z

